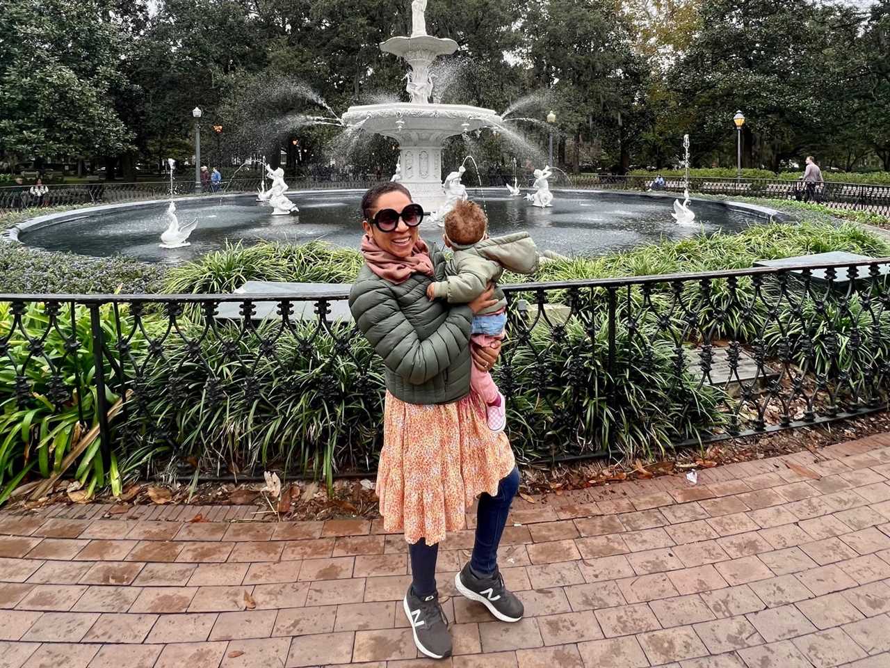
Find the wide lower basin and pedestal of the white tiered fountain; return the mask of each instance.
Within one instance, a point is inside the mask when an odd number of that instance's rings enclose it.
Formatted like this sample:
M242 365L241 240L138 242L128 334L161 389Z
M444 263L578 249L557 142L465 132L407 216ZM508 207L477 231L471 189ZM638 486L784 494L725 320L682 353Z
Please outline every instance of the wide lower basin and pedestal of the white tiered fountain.
M401 181L424 210L433 214L445 203L442 144L449 137L503 122L493 110L469 104L366 104L350 107L347 126L383 134L399 143Z

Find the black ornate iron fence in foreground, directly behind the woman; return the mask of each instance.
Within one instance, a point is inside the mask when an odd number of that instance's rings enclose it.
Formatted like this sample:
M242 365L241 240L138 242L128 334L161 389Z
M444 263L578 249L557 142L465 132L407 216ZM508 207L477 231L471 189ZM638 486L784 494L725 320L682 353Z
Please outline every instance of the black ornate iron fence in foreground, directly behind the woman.
M882 258L507 286L494 377L511 441L522 460L640 455L886 408L888 272ZM49 475L94 426L97 466L163 452L217 472L373 470L383 369L348 289L0 295L0 484Z

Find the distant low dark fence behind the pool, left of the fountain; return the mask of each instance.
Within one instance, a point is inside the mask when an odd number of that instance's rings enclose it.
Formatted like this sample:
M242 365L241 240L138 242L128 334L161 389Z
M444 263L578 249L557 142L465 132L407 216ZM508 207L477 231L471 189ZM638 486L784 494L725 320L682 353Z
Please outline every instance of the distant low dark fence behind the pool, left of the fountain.
M173 194L176 197L186 195L211 196L229 192L253 192L259 189L261 179L258 176L247 178L223 179L218 184L202 186L200 193L195 192L193 181L174 181ZM294 190L335 190L335 189L366 189L376 181L292 181L288 185ZM266 182L269 184L268 180ZM44 194L31 191L30 186L7 186L0 188L0 211L19 210L22 208L70 207L85 204L116 204L139 200L157 200L170 196L169 181L116 183L94 181L90 183L69 183L50 185Z

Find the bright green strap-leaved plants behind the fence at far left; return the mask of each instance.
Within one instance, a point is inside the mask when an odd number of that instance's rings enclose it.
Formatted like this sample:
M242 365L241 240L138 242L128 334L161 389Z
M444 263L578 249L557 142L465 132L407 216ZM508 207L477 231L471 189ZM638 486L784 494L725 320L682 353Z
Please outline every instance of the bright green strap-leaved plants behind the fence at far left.
M116 314L111 305L103 305L100 318L110 351L117 348L119 326L120 331L133 332L127 341L129 354L134 359L144 354L145 339L139 328L134 330L126 306ZM0 303L0 345L2 503L28 472L49 477L61 469L71 448L97 423L98 397L91 317L84 306ZM116 355L116 363L119 360ZM105 363L105 374L113 378L111 362ZM107 388L106 398L111 405L120 397ZM119 489L123 477L144 461L122 447L106 470L99 447L97 438L68 471L90 492L104 485Z

